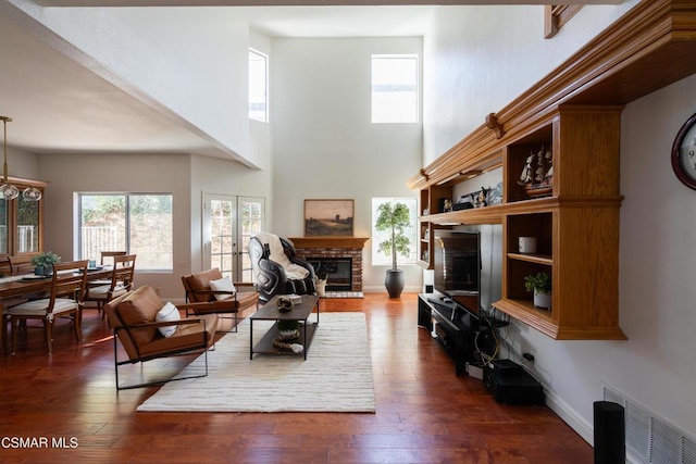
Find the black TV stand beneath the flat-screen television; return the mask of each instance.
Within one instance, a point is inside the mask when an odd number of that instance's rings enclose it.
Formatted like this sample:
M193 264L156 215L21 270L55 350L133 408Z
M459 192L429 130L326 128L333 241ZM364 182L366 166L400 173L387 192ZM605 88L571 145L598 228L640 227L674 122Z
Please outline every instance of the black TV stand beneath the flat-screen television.
M475 363L476 335L488 328L453 302L446 303L438 293L421 293L418 298L418 325L431 333L455 362L455 373L465 372L467 363Z

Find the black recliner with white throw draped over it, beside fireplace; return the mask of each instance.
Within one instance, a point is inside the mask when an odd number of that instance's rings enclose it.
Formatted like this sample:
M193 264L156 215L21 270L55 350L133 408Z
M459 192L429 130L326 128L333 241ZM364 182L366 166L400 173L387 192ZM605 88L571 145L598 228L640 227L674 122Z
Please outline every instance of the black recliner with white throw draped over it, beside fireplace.
M275 294L315 292L314 268L297 258L288 240L273 234L257 234L249 240L249 256L261 300L268 301Z

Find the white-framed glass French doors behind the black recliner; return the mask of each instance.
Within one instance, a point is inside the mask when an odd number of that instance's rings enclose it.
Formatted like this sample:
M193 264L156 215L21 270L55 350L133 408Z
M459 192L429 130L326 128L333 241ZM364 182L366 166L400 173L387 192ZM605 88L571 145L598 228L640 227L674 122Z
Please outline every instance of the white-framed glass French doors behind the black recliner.
M249 239L263 231L263 198L203 195L203 267L234 281L253 281Z

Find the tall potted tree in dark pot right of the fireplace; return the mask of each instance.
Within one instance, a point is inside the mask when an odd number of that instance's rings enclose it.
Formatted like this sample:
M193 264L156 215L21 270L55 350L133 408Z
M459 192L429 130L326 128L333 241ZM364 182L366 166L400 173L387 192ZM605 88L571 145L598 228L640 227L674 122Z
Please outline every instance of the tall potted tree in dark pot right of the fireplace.
M405 228L411 225L409 206L403 203L382 203L377 208L375 229L387 231L388 238L380 243L377 251L391 255L391 268L387 269L384 286L389 298L399 298L403 290L403 271L397 266L397 255L409 255L411 241L406 236Z

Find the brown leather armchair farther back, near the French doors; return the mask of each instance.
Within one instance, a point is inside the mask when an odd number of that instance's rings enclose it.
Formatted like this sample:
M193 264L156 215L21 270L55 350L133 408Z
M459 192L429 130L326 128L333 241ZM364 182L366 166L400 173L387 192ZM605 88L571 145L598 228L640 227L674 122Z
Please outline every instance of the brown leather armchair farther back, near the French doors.
M222 273L217 267L198 274L182 277L186 291L186 304L179 305L186 314L233 314L234 329L237 331L238 313L259 303L259 293L253 284L234 283L234 289L213 290L211 281L221 280ZM232 281L231 281L232 284Z

